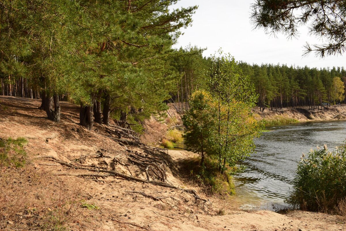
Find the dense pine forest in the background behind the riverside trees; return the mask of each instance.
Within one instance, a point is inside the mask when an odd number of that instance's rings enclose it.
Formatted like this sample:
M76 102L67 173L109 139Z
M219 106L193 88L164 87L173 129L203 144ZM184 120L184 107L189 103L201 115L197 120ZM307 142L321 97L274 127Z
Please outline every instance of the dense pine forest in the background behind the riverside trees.
M191 92L207 84L209 76L206 78L205 75L213 62L211 57L203 57L203 49L197 47L180 48L177 52L186 55L175 61L182 77L171 96L183 108L187 107ZM256 105L261 110L302 106L318 109L323 102L346 103L346 70L343 67L318 69L246 62L238 62L238 65L255 85Z

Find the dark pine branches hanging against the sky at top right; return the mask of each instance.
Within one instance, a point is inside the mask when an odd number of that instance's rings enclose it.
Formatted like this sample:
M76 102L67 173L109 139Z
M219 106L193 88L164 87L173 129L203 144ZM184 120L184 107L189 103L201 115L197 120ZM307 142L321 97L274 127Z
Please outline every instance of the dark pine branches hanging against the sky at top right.
M326 44L307 43L306 53L317 55L343 54L346 50L345 1L319 0L256 0L252 5L251 20L256 28L268 33L283 33L288 37L299 34L298 27L309 25L309 34L323 38Z

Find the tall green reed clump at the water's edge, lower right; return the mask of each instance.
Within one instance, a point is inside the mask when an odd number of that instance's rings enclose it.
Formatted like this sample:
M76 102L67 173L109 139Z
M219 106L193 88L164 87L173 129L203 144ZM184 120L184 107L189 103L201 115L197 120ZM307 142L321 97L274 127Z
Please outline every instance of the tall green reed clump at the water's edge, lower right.
M329 151L311 150L298 163L287 203L295 209L334 213L346 199L346 144Z

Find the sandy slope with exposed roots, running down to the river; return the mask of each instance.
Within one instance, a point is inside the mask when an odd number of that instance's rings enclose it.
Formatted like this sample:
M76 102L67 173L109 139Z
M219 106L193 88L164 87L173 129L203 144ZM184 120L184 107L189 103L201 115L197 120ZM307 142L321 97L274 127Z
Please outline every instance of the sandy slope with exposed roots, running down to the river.
M167 181L180 188L196 190L206 202L196 200L192 194L179 189L128 181L121 177L73 176L87 172L43 157L53 156L65 162L78 162L85 157L80 163L95 165L96 169L110 169L111 161L116 158L129 167L117 164L114 166L117 172L145 179L144 172L128 162L130 154L137 151L144 155L144 150L120 145L105 137L103 126L95 126L92 131L80 127L78 108L70 103L61 103L62 121L59 124L47 120L45 112L37 109L39 100L0 96L0 104L0 137L21 136L29 141L26 146L29 158L27 169L13 172L11 176L1 176L2 182L7 183L2 184L0 198L8 205L16 200L27 200L27 208L36 208L32 214L20 215L17 211L17 215L9 216L11 208L1 205L0 216L8 220L2 221L6 224L0 230L40 230L33 214L40 216L47 210L58 208L59 204L49 203L51 198L61 197L64 187L66 195L78 188L78 197L100 208L88 210L77 207L67 222L70 227L67 230L346 230L339 216L301 211L286 215L271 211L240 211L220 198L204 195L197 185L186 181L179 172L177 165L181 159L194 155L186 151L160 154L167 163ZM103 157L96 155L98 151L104 153ZM19 174L18 178L16 174ZM14 178L4 181L6 177ZM15 193L13 188L20 193ZM162 199L153 200L153 197L133 192ZM216 215L220 209L226 215Z

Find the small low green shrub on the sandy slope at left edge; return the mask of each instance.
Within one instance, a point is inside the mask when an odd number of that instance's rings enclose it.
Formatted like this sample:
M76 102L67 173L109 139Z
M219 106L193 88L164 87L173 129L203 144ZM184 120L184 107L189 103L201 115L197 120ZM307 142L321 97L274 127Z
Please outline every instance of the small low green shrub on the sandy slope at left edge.
M17 139L0 138L0 166L21 168L25 165L26 151L23 146L27 144L23 137Z

